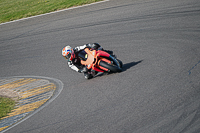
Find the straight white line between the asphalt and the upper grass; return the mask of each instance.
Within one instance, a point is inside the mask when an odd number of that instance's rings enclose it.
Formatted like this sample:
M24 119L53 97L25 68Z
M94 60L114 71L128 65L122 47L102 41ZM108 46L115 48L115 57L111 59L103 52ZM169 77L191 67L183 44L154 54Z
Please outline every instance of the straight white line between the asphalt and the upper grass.
M72 9L76 9L76 8L80 8L80 7L90 6L90 5L94 5L94 4L99 4L99 3L103 3L103 2L107 2L107 1L110 1L110 0L99 1L99 2L95 2L95 3L86 4L86 5L82 5L82 6L71 7L71 8L55 11L55 12L50 12L50 13L45 13L45 14L41 14L41 15L31 16L31 17L28 17L28 18L22 18L22 19L18 19L18 20L6 22L6 23L1 23L0 25L14 23L14 22L18 22L18 21L22 21L22 20L26 20L26 19L30 19L30 18L36 18L36 17L40 17L40 16L45 16L45 15L54 14L54 13L58 13L58 12L63 12L63 11L67 11L67 10L72 10Z

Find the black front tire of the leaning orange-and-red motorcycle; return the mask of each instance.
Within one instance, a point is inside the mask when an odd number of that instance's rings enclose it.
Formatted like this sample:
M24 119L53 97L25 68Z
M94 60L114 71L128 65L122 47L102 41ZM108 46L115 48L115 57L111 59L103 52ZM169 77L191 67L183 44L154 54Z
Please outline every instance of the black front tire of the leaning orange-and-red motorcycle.
M109 63L107 63L105 61L100 61L99 65L104 67L104 68L109 69L111 72L121 72L122 71L122 69L120 67L118 67L118 66L116 66L114 64L109 64Z

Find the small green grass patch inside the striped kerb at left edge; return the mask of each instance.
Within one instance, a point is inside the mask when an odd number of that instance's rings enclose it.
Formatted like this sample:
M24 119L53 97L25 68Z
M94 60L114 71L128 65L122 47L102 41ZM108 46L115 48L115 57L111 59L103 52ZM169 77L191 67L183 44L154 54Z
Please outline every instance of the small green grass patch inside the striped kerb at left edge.
M10 113L11 110L14 109L14 106L14 100L6 97L0 97L0 119Z

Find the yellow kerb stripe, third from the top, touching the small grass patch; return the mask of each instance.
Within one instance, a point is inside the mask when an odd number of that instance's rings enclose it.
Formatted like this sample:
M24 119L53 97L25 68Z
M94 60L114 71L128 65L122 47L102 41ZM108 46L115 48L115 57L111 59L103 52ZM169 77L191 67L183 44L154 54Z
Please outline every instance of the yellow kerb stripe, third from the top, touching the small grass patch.
M27 104L27 105L23 105L17 109L14 109L11 113L8 114L8 116L3 117L3 119L5 118L9 118L15 115L19 115L19 114L23 114L26 112L30 112L35 110L36 108L40 107L42 104L44 104L48 99L44 99L35 103L31 103L31 104Z

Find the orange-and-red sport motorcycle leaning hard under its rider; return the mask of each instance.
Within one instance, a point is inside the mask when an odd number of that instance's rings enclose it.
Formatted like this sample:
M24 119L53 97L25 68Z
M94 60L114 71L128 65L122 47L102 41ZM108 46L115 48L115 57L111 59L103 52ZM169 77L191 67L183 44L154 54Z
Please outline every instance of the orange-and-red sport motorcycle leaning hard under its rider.
M103 50L85 48L78 54L81 64L97 72L121 72L123 63Z

